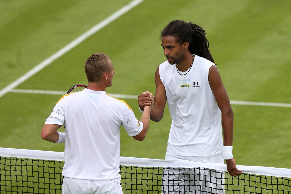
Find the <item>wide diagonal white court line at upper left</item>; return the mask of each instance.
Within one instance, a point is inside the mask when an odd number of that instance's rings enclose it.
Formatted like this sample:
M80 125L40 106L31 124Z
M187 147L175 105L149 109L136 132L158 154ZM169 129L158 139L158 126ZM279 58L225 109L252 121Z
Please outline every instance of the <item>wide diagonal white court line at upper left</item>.
M82 34L81 36L79 36L78 38L76 38L75 40L67 44L65 47L57 51L55 54L53 54L49 58L42 61L40 64L33 67L26 74L22 75L17 80L13 81L11 84L9 84L8 86L0 90L0 97L2 97L4 94L9 92L9 90L12 90L13 88L17 87L22 82L26 81L29 77L33 76L38 71L42 70L44 67L51 64L53 61L55 61L56 59L58 59L59 57L61 57L62 55L70 51L72 48L76 47L78 44L86 40L89 36L93 35L94 33L99 31L100 29L102 29L103 27L105 27L106 25L114 21L115 19L119 18L120 16L122 16L123 14L125 14L126 12L134 8L136 5L139 5L143 1L144 0L134 0L130 2L129 4L125 5L124 7L120 8L117 12L113 13L108 18L104 19L103 21L93 26L84 34Z

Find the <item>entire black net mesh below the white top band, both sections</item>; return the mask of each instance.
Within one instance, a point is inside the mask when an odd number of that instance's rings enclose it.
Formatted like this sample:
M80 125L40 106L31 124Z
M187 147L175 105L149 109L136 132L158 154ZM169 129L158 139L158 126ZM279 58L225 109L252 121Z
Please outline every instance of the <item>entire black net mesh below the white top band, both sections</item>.
M63 161L0 157L0 191L61 193ZM205 168L120 166L123 193L291 193L291 178Z

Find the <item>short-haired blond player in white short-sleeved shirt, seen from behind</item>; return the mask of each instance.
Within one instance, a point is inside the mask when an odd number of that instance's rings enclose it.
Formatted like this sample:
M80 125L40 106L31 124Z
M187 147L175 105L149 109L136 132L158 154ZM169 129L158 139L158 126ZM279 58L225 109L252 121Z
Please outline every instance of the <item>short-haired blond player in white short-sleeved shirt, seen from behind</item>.
M45 121L43 139L65 143L63 194L122 194L119 174L120 126L142 141L149 128L151 102L140 120L123 100L106 94L114 75L106 54L92 54L85 63L88 87L64 95ZM149 94L152 99L152 94ZM66 132L57 130L62 125Z

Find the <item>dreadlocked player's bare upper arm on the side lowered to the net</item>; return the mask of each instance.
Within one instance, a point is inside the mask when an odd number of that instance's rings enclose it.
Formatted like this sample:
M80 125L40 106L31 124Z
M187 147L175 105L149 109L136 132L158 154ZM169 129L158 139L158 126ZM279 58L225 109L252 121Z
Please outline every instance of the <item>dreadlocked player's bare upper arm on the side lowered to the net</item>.
M231 109L229 97L227 95L225 87L222 84L219 71L215 65L212 65L209 68L208 81L219 109L222 112Z

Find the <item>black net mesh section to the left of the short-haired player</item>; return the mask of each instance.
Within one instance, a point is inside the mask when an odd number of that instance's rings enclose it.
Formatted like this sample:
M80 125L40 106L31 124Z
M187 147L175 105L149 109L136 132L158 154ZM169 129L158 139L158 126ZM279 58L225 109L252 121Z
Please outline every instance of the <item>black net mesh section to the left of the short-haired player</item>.
M64 162L0 157L2 193L61 193Z

